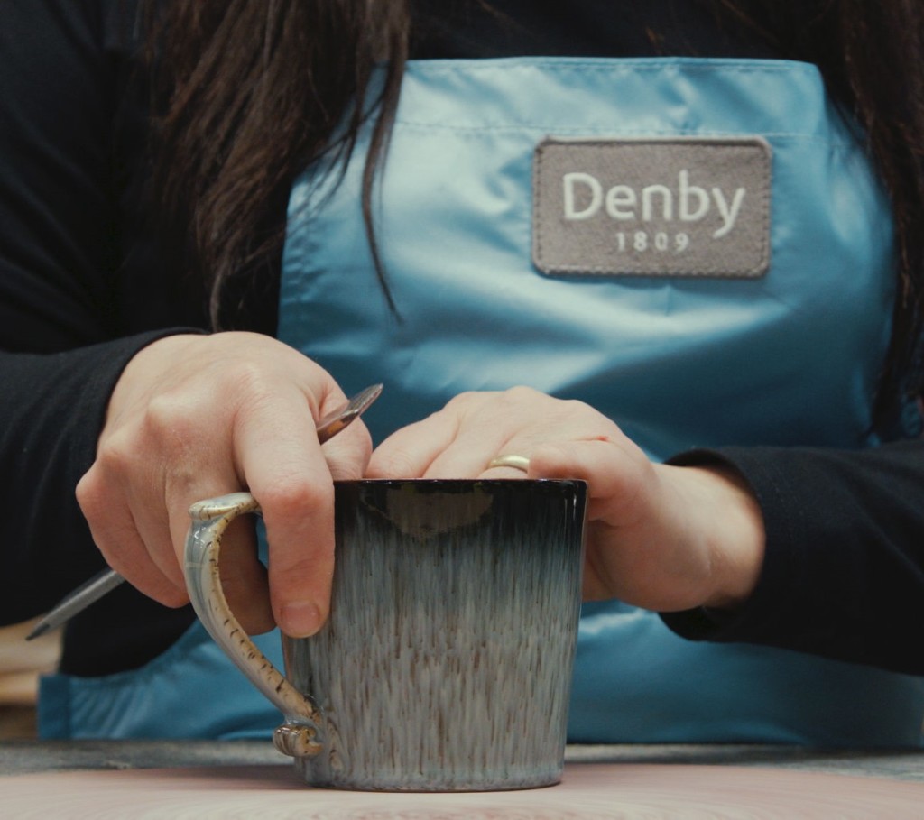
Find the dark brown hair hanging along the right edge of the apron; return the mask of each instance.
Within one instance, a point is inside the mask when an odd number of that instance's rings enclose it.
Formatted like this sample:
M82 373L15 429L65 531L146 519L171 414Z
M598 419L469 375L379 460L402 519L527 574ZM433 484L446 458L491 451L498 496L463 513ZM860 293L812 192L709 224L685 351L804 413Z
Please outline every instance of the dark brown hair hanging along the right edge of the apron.
M714 0L784 56L815 63L853 116L892 201L898 295L876 420L924 389L924 4L920 0Z

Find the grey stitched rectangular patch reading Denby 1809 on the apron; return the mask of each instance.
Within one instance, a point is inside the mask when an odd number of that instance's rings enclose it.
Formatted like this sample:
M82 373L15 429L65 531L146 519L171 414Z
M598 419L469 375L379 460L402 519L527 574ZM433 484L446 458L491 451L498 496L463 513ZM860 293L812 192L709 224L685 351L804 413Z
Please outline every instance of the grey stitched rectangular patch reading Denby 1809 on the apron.
M770 189L758 137L544 139L533 261L550 274L762 276Z

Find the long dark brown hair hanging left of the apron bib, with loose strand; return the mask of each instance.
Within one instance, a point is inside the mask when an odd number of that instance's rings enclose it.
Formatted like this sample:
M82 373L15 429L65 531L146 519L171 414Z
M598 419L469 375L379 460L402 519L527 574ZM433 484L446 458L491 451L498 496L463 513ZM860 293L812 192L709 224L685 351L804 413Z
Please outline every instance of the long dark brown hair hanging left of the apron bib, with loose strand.
M343 167L375 111L363 180L372 239L372 181L407 59L406 2L153 0L146 16L159 113L154 196L164 235L183 226L182 258L208 288L218 329L225 286L259 268L282 240L269 213L274 195L322 156ZM380 63L378 100L354 105ZM342 136L334 138L335 129ZM371 247L384 286L374 241Z

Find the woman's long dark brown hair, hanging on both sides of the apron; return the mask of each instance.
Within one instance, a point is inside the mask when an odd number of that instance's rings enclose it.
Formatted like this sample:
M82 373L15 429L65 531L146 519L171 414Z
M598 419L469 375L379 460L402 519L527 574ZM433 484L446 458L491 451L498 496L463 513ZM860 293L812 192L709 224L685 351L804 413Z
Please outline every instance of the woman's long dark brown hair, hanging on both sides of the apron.
M487 5L485 0L474 0ZM924 5L920 0L702 0L757 30L782 56L817 64L856 118L892 200L899 289L877 416L917 392L924 308ZM152 5L155 92L162 105L156 189L188 224L187 259L211 293L253 271L282 236L268 229L280 187L313 160L346 161L370 115L354 104L386 66L377 98L363 212L394 120L407 60L407 0L174 0ZM159 9L159 11L158 11ZM337 131L342 123L347 127ZM342 136L334 137L334 133ZM390 296L389 296L390 299ZM392 305L394 309L395 306ZM912 378L913 377L913 378Z

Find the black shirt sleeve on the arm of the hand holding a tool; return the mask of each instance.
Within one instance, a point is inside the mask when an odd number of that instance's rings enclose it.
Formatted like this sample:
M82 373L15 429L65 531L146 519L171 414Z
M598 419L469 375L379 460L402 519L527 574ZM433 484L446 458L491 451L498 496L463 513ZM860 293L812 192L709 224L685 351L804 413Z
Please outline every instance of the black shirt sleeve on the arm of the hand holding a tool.
M143 169L116 103L130 100L131 6L0 5L0 622L103 566L74 489L109 395L140 347L200 326L171 313L135 220Z

